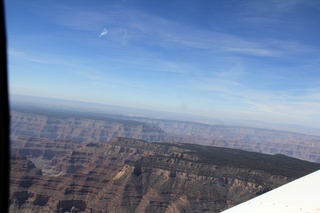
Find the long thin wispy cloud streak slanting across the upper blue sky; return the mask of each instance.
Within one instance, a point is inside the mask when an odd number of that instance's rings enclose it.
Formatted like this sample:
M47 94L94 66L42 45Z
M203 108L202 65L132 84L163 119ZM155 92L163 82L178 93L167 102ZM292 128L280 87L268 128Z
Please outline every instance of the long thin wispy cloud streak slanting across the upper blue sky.
M210 50L215 53L244 54L264 57L279 57L308 49L298 42L270 40L265 38L247 39L227 32L197 29L187 23L168 20L144 11L110 7L108 10L90 11L60 6L57 13L47 14L56 24L72 29L96 31L102 25L112 26L119 31L122 44L143 41L145 45L168 49ZM157 27L155 27L157 26ZM125 29L125 30L123 30ZM99 37L106 35L104 29ZM309 47L309 50L312 49Z

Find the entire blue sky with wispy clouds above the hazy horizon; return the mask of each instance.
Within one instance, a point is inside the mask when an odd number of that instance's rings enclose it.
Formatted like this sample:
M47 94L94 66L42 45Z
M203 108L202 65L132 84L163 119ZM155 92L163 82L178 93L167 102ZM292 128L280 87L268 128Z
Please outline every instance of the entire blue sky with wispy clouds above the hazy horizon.
M10 94L320 128L318 0L5 0Z

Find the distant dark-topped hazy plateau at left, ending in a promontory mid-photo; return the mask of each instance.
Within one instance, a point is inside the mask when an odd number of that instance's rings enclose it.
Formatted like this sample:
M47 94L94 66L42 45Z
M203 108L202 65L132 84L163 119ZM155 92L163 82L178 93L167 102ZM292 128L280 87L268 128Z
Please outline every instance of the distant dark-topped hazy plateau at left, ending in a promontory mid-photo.
M74 111L24 108L11 111L11 138L31 136L74 142L106 142L122 136L162 141L164 132L154 124L101 117Z

